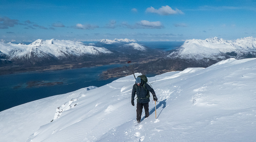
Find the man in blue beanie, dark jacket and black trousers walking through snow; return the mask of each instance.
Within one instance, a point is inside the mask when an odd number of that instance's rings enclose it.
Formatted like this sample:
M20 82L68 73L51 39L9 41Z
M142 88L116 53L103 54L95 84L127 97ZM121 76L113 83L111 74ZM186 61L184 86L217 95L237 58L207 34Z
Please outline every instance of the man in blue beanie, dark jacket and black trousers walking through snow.
M152 93L154 101L157 101L157 97L155 95L155 91L152 87L150 87L149 84L147 84L143 79L140 77L136 78L135 84L133 85L132 88L132 105L134 106L134 97L135 93L137 95L137 123L140 123L141 121L141 114L142 114L142 109L144 107L145 110L145 118L149 117L149 102L150 102L150 94L149 92Z

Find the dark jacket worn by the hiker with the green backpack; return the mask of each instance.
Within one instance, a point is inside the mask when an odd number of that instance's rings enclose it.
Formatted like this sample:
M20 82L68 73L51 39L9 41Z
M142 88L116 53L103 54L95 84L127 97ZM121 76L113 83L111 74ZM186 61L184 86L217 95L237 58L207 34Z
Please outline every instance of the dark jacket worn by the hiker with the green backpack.
M143 87L144 83L145 83L146 90ZM154 89L149 84L144 82L143 80L141 80L140 86L138 86L135 83L132 87L132 101L134 101L134 97L135 97L135 94L136 94L137 97L138 97L137 102L139 102L139 103L148 103L148 102L150 102L149 98L148 99L140 99L140 98L145 98L147 96L147 90L152 93L153 97L156 96Z

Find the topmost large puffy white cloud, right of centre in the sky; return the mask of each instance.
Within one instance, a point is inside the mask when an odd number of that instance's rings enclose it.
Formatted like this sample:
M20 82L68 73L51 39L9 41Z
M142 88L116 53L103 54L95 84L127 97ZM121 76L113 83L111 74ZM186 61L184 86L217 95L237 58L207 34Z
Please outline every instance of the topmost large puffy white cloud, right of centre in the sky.
M166 6L162 6L159 9L155 9L154 7L149 7L146 9L146 12L148 13L156 13L159 15L174 15L174 14L184 14L181 10L179 9L175 9L173 10L170 6L166 5Z

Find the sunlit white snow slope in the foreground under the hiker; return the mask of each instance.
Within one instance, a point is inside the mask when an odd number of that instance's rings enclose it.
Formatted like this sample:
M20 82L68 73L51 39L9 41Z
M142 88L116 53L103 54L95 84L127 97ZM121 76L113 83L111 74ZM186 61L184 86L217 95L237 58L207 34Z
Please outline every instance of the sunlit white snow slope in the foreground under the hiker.
M0 112L0 141L255 141L255 66L231 58L148 78L159 102L137 126L133 75L29 102Z

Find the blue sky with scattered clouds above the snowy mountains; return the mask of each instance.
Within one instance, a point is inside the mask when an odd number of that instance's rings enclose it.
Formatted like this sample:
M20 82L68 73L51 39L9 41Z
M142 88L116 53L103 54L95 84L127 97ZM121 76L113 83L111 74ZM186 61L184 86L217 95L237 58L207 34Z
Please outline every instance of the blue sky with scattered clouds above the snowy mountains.
M0 41L256 37L256 1L1 0Z

